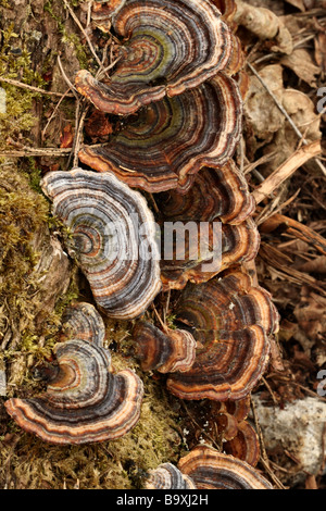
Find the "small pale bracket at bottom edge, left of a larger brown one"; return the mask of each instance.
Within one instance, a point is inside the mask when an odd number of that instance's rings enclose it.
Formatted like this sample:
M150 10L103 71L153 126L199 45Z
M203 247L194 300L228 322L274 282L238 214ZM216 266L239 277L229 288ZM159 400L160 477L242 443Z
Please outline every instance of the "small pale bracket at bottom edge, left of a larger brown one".
M172 463L162 463L149 472L145 489L197 489L197 487L191 477L181 474Z

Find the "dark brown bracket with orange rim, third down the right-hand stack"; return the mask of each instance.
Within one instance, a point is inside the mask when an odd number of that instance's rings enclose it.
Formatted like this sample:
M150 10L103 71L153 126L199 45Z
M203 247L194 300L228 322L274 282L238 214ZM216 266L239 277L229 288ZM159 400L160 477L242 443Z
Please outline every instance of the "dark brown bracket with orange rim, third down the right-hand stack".
M238 225L251 216L255 201L244 176L233 160L221 169L202 169L187 194L170 190L155 197L165 221L211 222Z

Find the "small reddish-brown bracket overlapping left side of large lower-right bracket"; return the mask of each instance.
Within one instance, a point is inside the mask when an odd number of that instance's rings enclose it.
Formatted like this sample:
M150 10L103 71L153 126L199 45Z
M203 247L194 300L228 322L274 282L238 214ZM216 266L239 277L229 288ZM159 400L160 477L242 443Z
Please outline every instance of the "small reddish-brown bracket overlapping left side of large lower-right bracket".
M151 323L139 321L133 331L142 371L174 373L188 371L195 362L196 340L187 331L161 332Z

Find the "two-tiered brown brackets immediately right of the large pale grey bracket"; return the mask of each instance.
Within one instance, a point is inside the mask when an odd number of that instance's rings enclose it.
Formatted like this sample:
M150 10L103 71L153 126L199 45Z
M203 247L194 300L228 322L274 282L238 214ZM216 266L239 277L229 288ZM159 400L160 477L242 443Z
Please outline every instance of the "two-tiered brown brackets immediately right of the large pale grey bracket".
M260 235L248 184L235 163L203 169L187 195L170 190L159 196L164 289L200 284L256 257ZM166 236L167 226L175 236ZM185 230L188 238L184 240ZM166 257L167 254L167 257Z

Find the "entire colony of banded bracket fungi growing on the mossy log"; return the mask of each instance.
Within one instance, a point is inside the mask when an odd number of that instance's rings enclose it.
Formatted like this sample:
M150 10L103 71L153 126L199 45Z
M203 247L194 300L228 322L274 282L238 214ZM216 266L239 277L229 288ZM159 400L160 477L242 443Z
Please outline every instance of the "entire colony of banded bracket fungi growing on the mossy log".
M42 179L98 310L137 320L133 338L141 369L167 374L166 388L179 399L220 407L216 421L229 454L200 446L178 468L164 463L153 471L148 488L271 488L254 470L248 407L237 412L267 367L278 314L246 272L260 237L254 200L231 160L246 90L234 12L234 2L224 0L92 2L92 18L117 38L116 65L105 82L83 70L75 84L102 116L117 116L112 126L118 127L106 130L104 142L83 145L79 160L91 170L50 172ZM202 244L200 237L191 244L191 235L185 253L173 241L164 247L172 260L160 260L155 223L164 235L168 222L206 224L208 246L222 226L216 264L211 250L192 257ZM209 271L203 262L212 263ZM171 289L179 292L173 311L178 328L158 327L143 314ZM5 403L21 427L54 444L102 441L130 431L142 383L130 370L112 372L104 335L89 303L66 311L47 391ZM235 458L239 451L251 465Z

